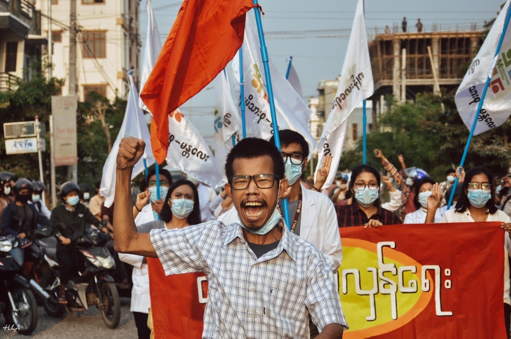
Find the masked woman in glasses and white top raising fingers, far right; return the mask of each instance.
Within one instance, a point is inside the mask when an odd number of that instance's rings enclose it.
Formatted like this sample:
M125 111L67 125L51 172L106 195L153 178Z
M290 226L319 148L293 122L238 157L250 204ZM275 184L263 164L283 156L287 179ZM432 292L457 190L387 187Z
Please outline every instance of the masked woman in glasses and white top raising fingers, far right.
M462 175L456 175L463 179ZM456 209L446 211L440 223L474 223L474 222L502 222L502 228L511 232L511 220L503 211L495 206L495 186L492 184L493 176L484 166L469 169L464 174L462 190L456 203ZM440 196L431 195L429 198L430 207L426 223L431 222L436 209L440 205ZM509 234L504 236L504 318L507 337L509 338L509 325L511 317L511 299L509 298L509 261L511 256L511 239Z

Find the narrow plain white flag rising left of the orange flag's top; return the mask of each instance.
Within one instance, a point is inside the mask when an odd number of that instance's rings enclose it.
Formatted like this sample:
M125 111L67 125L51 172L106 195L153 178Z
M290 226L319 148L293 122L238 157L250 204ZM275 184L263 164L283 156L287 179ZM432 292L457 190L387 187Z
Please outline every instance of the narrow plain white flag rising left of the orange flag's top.
M158 26L154 18L153 9L151 7L151 0L147 0L147 39L146 48L144 50L144 57L142 58L142 71L140 73L140 91L144 89L147 78L153 70L156 59L161 51L161 40L159 37ZM138 105L148 111L146 104L138 98Z

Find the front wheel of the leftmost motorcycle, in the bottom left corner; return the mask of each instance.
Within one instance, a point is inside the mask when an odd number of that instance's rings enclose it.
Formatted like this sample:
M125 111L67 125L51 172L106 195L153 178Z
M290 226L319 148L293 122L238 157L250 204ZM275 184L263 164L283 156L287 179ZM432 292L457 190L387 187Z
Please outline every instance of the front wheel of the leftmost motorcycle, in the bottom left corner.
M8 318L14 327L19 328L20 334L30 335L37 326L37 304L34 294L25 287L16 287L11 290L11 294L18 312L14 312L11 304L8 303Z

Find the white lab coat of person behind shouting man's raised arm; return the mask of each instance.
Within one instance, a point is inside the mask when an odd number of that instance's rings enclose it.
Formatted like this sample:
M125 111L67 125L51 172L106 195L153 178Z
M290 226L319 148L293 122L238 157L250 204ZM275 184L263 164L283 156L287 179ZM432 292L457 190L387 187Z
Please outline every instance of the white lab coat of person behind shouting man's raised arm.
M137 214L135 225L140 226L151 221L154 221L153 208L151 204L147 204ZM151 307L149 272L147 270L147 263L142 263L144 257L141 255L119 253L119 259L133 266L130 311L149 313L149 307Z

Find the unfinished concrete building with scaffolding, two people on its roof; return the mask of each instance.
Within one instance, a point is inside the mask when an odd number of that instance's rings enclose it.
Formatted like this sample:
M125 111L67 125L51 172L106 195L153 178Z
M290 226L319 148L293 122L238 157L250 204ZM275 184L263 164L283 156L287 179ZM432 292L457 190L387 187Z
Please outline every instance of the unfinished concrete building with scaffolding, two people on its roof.
M371 99L378 102L381 95L393 94L404 102L418 92L455 89L477 54L482 35L483 31L377 34L369 42L375 81Z

